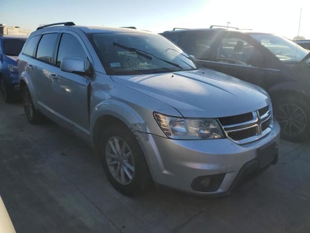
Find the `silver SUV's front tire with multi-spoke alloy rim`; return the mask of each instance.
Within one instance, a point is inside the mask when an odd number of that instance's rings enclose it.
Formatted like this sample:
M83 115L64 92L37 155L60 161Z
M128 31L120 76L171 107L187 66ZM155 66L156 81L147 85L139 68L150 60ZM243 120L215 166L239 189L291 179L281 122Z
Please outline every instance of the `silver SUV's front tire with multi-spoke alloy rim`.
M103 132L99 153L109 182L124 195L135 196L151 183L143 151L122 123L109 126Z

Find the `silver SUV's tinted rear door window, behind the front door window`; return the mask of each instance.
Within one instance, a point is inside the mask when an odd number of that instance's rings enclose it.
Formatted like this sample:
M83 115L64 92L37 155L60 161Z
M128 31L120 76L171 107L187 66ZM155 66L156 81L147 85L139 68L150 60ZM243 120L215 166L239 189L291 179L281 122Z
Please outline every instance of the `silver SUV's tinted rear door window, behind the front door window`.
M44 34L39 42L36 58L52 63L58 33Z

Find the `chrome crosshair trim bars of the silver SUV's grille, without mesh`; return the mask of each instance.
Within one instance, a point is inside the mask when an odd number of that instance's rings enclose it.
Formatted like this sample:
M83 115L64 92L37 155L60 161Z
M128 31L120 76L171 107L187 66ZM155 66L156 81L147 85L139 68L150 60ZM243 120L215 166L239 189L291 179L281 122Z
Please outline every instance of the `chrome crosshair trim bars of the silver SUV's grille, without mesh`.
M265 108L265 107L264 107ZM263 109L263 108L262 108ZM272 107L271 104L269 104L269 109L267 110L267 112L265 112L263 114L263 116L260 116L259 111L262 110L259 109L257 111L253 111L253 119L246 121L246 122L242 122L239 124L234 124L234 125L222 125L220 123L220 125L222 126L225 135L227 136L227 138L231 139L233 142L237 143L237 144L246 144L249 142L253 142L255 140L258 140L260 138L262 138L263 136L267 135L268 133L270 133L270 131L272 130L273 127L273 116L272 116ZM265 121L270 120L270 124L268 125L268 127L262 131L262 124ZM229 136L229 133L232 132L240 132L240 131L246 131L249 128L256 128L256 135L242 139L242 140L234 140L232 137Z

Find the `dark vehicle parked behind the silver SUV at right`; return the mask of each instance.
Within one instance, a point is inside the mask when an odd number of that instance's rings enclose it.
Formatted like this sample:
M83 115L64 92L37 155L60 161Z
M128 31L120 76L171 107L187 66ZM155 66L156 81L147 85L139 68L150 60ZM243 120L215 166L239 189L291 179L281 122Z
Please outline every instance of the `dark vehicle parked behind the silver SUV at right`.
M282 137L310 134L310 54L294 42L251 30L183 29L161 33L203 67L259 85L271 96Z

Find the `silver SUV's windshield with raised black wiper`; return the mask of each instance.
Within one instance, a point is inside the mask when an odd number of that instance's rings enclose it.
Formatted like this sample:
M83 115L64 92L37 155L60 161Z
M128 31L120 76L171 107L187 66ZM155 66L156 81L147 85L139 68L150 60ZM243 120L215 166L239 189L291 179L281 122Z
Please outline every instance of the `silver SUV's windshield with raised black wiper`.
M95 33L89 37L110 75L193 70L198 66L183 50L161 35Z

